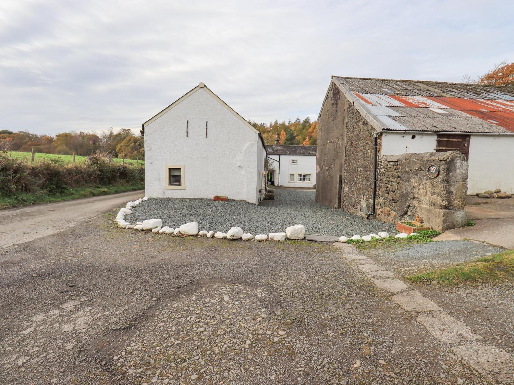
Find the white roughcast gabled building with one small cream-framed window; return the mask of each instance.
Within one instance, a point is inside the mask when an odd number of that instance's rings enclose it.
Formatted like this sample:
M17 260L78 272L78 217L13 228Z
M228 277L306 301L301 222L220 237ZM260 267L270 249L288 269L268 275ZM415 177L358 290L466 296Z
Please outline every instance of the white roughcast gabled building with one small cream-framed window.
M147 197L264 198L262 135L204 83L144 122L141 133Z

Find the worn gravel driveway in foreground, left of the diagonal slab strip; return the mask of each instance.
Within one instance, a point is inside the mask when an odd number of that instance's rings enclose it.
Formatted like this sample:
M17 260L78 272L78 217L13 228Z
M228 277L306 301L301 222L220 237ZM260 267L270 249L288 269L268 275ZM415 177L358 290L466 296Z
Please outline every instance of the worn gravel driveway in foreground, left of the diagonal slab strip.
M485 382L333 246L112 219L0 254L0 383Z

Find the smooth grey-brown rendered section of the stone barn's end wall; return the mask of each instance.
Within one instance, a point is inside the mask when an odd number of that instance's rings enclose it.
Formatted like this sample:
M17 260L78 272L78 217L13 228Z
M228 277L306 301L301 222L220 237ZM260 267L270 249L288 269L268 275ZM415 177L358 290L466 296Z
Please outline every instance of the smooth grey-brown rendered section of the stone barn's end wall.
M338 176L343 173L347 100L331 83L318 120L316 202L337 206Z

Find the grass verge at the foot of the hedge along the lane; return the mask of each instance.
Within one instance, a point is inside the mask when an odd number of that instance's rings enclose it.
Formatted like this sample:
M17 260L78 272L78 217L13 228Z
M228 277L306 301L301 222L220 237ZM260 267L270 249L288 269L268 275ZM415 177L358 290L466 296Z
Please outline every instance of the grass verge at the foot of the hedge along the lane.
M0 209L27 206L39 203L69 201L72 199L97 197L100 195L117 194L118 192L141 190L144 184L116 184L108 186L72 188L63 194L45 195L39 193L19 192L9 197L0 197Z

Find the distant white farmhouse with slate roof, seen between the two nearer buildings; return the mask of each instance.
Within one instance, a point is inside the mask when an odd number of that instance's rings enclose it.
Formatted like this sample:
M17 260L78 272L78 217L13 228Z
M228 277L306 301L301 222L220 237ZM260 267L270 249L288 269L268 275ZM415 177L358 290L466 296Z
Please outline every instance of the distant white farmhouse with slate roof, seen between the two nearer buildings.
M267 145L268 183L273 186L314 187L316 146Z

